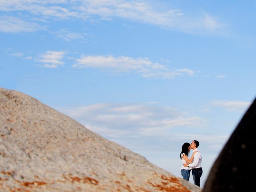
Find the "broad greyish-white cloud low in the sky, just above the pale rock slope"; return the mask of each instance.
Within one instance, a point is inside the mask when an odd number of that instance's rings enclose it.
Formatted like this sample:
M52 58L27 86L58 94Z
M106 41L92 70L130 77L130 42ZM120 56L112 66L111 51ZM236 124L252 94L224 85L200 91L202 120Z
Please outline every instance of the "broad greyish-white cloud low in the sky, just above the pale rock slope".
M203 121L200 117L186 116L170 107L146 104L103 103L62 112L103 135L109 132L114 135L114 130L117 130L119 134L121 131L137 136L163 136L166 131L180 127L198 127Z

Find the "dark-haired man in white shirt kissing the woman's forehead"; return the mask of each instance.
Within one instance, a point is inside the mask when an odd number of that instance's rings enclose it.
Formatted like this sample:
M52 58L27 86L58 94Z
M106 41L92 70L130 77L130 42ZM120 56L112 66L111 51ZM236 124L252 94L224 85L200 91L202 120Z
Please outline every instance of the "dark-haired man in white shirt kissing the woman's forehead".
M198 146L199 146L199 142L196 140L193 140L192 143L190 144L190 149L193 149L193 151L198 151L198 149L197 149ZM200 178L203 174L201 162L202 162L202 156L201 156L200 152L198 151L194 154L194 160L192 163L183 164L185 167L192 168L192 176L193 176L194 184L199 187L200 187Z

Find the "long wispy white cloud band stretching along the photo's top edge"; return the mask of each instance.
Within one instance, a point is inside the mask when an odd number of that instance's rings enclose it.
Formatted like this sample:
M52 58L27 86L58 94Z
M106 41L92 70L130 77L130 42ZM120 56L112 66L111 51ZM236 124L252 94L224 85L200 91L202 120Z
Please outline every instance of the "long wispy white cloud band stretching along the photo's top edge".
M191 16L180 9L162 8L145 0L4 0L0 2L0 10L24 11L33 14L34 19L40 16L47 21L123 18L186 33L212 33L223 28L217 18L206 12Z

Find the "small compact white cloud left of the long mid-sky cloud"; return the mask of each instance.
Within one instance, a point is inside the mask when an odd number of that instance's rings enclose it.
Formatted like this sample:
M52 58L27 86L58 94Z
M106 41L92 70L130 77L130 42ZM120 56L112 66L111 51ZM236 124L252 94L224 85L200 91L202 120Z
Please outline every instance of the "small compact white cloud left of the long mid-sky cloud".
M64 64L62 61L64 54L64 51L46 51L45 54L40 55L37 61L45 63L43 67L56 68L58 65Z

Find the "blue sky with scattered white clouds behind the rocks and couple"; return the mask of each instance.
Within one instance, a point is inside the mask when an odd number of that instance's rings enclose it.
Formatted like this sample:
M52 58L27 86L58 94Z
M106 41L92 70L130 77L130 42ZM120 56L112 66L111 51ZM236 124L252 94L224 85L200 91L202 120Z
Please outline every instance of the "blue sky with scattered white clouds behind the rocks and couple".
M256 92L255 0L0 0L0 87L201 186ZM192 175L190 182L193 183Z

